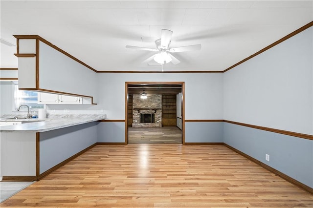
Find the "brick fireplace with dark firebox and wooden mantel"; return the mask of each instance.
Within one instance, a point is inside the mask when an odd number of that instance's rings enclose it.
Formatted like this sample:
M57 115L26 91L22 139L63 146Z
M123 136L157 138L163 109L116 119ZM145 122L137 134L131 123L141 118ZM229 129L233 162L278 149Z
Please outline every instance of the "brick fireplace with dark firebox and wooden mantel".
M133 127L162 127L162 95L133 95Z

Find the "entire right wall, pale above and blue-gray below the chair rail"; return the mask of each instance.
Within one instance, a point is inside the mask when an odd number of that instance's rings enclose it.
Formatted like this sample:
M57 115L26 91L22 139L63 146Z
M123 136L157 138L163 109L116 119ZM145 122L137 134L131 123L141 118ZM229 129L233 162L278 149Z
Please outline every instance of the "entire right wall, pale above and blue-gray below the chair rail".
M312 27L224 73L224 120L313 134ZM312 140L224 123L224 143L313 187Z

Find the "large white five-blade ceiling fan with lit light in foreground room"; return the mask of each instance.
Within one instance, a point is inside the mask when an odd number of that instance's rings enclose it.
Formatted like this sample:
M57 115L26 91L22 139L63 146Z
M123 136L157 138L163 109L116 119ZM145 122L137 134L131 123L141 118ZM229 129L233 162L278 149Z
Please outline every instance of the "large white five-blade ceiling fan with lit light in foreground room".
M132 45L126 45L126 48L157 52L155 55L149 57L143 62L150 62L151 60L155 60L160 65L163 65L164 63L168 63L168 62L172 62L174 64L180 63L180 61L177 58L175 58L171 53L197 51L201 49L201 44L170 48L172 34L173 34L173 31L162 29L161 38L155 41L156 48L145 48L145 47L138 47L138 46L132 46Z

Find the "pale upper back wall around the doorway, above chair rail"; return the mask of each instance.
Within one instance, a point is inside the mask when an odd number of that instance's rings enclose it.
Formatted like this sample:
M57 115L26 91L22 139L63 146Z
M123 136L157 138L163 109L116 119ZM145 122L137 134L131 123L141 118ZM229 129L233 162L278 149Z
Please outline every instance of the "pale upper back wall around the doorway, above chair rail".
M184 82L185 119L223 118L223 73L99 73L99 100L109 120L125 119L125 82Z

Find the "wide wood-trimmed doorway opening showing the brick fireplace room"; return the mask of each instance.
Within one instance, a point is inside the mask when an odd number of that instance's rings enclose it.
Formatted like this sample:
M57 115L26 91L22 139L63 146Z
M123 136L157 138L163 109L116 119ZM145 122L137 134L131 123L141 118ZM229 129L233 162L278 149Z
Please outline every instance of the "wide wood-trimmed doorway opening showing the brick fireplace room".
M125 144L184 144L184 82L126 82Z

